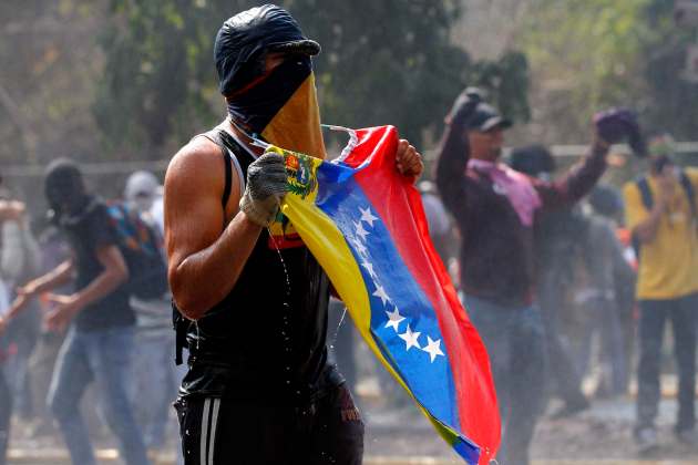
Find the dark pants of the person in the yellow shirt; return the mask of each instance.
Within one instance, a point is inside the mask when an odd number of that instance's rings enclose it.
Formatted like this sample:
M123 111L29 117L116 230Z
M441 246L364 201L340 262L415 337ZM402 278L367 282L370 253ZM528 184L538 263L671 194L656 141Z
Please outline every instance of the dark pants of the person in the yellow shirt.
M674 353L679 378L676 431L692 430L696 423L696 312L698 294L670 300L640 300L637 370L637 428L653 426L660 397L659 372L664 326L671 321Z

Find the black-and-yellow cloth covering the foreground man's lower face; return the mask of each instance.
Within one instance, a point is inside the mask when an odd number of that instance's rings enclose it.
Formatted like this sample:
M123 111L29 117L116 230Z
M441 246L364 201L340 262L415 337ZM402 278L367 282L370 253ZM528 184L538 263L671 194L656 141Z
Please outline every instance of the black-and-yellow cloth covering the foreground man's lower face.
M228 97L233 122L278 147L326 158L309 56L289 55L250 86Z

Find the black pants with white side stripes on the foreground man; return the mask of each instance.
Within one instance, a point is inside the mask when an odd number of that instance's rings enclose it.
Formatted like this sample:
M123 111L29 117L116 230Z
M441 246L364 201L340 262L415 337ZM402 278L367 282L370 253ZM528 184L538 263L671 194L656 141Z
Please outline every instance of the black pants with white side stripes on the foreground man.
M342 385L302 409L191 396L175 402L185 465L360 465L363 423Z

